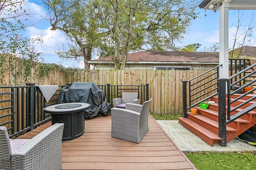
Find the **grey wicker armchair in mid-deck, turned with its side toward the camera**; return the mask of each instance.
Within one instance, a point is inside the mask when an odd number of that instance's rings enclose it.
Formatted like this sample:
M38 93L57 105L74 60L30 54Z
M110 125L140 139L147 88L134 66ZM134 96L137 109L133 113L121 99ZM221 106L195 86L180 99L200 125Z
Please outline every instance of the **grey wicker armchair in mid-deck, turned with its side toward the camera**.
M150 103L145 101L143 105L126 103L126 109L112 108L111 136L135 143L140 143L148 132L148 113Z

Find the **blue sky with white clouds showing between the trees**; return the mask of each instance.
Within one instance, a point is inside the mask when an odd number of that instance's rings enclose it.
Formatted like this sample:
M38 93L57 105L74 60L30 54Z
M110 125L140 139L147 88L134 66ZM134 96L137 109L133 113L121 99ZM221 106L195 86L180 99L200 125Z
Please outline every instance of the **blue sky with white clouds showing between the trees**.
M62 49L62 43L67 42L67 39L63 32L60 30L52 31L50 30L50 21L47 20L47 12L40 6L41 0L26 0L29 3L25 3L26 6L23 8L30 9L33 15L28 21L24 22L26 25L32 25L26 27L26 36L29 38L36 38L38 36L43 36L43 44L35 44L36 50L42 52L42 57L46 63L56 63L69 67L81 67L80 63L82 61L65 61L60 59L58 55L54 53L58 49ZM202 0L198 0L200 4ZM200 43L202 46L198 51L204 51L204 48L211 47L214 43L219 41L219 12L213 12L212 10L203 10L198 7L196 10L198 12L198 18L192 21L187 34L184 34L184 39L182 43L177 42L177 46L185 46L192 43ZM252 14L256 10L242 10L240 15L243 14L241 19L241 26L238 35L241 35L250 22ZM206 16L205 16L206 14ZM255 14L254 14L255 16ZM229 44L233 44L232 38L236 33L236 26L238 21L238 10L229 10ZM37 24L36 24L37 23ZM245 42L244 45L256 46L256 18L254 18L252 26L254 27L253 34L250 37L250 42Z

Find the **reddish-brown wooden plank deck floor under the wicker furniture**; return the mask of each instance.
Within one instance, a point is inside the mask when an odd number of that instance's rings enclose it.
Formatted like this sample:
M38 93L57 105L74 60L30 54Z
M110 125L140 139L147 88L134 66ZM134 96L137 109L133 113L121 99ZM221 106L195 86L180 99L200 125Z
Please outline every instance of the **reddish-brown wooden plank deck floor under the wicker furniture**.
M85 132L62 142L62 169L172 170L196 169L156 121L139 144L111 137L111 116L84 121ZM32 138L51 123L18 138Z

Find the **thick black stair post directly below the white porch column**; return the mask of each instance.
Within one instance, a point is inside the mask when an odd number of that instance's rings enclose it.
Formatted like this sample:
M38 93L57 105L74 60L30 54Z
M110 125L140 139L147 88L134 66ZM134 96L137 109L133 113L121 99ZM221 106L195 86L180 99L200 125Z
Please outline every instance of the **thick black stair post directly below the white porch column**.
M226 134L226 82L228 79L217 79L218 85L218 121L220 146L227 146Z

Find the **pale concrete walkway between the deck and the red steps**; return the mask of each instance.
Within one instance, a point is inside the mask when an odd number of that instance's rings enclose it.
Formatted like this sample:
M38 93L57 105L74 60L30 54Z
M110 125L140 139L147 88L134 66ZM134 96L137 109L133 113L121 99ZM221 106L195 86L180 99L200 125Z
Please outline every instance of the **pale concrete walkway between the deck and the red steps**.
M222 147L218 144L210 146L187 128L180 125L178 121L157 121L157 123L164 129L182 152L256 151L256 145L250 145L247 142L242 142L237 139L228 142L226 147Z

